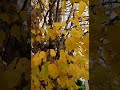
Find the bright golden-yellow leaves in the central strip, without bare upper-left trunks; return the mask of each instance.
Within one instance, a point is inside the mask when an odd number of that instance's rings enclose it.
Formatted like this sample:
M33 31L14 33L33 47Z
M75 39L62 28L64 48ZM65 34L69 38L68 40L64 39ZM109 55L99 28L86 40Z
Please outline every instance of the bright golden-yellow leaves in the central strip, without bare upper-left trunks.
M70 1L73 5L73 7L70 7L71 10L74 10L75 7L78 8L78 11L71 11L71 15L74 14L73 17L68 17L67 21L56 20L58 16L53 17L54 13L52 13L52 18L49 15L46 18L51 18L53 22L47 21L44 17L43 20L46 21L43 22L42 27L38 30L35 28L31 30L33 35L31 45L35 49L39 48L31 61L32 83L34 84L32 90L53 90L54 88L58 90L78 90L75 82L81 77L86 80L89 79L87 63L89 35L85 34L80 23L80 18L83 19L83 12L88 0ZM50 8L46 5L46 2L41 2L46 9ZM54 2L49 1L49 3L52 5ZM61 3L57 4L61 4L58 8L61 7L60 13L64 15L67 1L62 0ZM60 18L62 17L60 16ZM67 29L70 22L73 23L73 26L71 25L72 28ZM89 29L89 27L84 28ZM38 41L40 47L36 41ZM36 81L36 85L34 81ZM37 86L37 84L39 85Z

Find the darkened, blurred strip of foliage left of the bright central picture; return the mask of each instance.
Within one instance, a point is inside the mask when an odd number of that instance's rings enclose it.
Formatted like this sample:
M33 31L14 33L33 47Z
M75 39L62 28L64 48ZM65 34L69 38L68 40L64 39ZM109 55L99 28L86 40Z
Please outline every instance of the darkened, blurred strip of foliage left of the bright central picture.
M30 89L30 0L0 0L0 88Z

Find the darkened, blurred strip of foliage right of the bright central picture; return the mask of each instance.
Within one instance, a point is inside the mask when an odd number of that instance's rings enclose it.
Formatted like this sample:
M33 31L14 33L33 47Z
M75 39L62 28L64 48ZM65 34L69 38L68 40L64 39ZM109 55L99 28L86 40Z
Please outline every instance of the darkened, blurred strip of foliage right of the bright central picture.
M91 90L120 89L119 0L91 0Z

